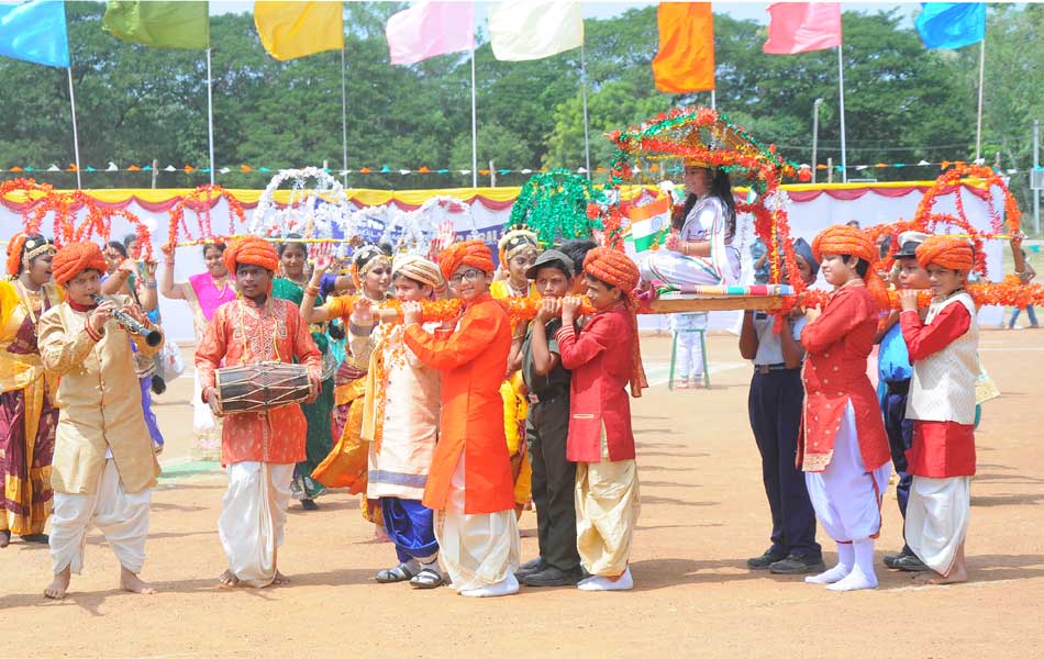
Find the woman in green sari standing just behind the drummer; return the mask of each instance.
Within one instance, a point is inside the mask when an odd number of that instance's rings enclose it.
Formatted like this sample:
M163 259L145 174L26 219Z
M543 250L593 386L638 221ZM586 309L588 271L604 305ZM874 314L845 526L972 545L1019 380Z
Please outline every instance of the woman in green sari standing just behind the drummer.
M289 300L299 308L306 297L306 288L310 287L306 265L308 263L308 246L300 239L301 236L290 234L277 249L279 254L280 276L271 284L271 297ZM332 291L345 288L351 283L347 277L325 278L321 272L316 284L315 297L320 301ZM325 290L323 290L325 289ZM323 356L322 390L313 403L301 405L304 418L308 421L308 436L304 443L306 459L298 462L293 470L293 481L290 491L293 498L301 502L306 511L319 509L315 498L326 488L312 478L312 471L322 462L333 446L333 409L334 409L334 371L337 369L336 357L330 348L326 321L309 321L312 340Z

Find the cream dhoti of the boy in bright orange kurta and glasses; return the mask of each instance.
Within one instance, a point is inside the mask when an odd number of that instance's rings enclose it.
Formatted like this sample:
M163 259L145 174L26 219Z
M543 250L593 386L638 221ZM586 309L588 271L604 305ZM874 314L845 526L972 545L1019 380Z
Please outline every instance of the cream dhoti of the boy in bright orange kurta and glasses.
M519 568L521 540L514 511L464 512L464 454L449 481L446 510L435 511L438 562L457 592L495 585Z

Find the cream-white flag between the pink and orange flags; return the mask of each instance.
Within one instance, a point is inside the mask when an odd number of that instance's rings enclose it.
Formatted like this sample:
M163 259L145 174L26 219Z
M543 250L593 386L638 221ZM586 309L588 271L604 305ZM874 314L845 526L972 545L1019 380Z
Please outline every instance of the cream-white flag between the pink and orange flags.
M504 62L543 59L584 45L579 2L508 0L489 12L493 57Z

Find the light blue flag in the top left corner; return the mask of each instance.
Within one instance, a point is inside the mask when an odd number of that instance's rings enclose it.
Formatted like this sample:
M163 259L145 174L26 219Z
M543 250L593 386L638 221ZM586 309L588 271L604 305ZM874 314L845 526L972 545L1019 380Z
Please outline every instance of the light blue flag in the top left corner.
M68 68L65 2L33 0L0 5L0 57Z

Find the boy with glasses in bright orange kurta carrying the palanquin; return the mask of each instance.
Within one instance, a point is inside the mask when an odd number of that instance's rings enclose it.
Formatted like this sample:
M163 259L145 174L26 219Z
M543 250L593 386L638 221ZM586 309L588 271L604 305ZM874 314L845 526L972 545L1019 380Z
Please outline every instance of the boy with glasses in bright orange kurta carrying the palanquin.
M438 444L423 503L435 511L438 559L452 588L468 597L510 595L519 592L521 551L500 398L510 321L489 294L493 258L481 241L451 245L438 267L464 302L453 326L430 334L420 303L402 305L407 347L443 371Z

